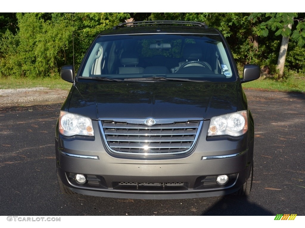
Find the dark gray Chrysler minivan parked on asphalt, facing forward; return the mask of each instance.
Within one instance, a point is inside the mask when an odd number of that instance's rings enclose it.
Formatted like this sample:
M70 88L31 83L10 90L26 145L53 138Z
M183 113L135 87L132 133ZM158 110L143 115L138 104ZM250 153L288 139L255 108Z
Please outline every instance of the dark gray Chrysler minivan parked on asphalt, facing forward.
M248 195L254 123L224 36L202 22L122 23L97 35L56 126L67 194L181 199Z

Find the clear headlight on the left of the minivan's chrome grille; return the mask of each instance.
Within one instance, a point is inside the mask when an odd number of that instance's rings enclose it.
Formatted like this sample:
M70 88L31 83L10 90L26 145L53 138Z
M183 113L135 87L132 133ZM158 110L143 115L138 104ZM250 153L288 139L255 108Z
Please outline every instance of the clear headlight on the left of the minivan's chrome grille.
M60 111L59 132L64 136L94 136L90 118L65 111Z

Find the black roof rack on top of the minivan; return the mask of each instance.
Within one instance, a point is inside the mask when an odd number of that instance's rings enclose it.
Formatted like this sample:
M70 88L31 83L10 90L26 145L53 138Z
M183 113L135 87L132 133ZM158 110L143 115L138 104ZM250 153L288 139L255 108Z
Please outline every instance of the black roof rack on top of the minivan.
M164 24L179 24L179 25L195 25L204 27L208 29L209 26L204 22L197 21L133 21L133 22L124 22L120 23L117 26L114 26L113 29L117 29L119 27L131 27L131 26L141 26L141 25L164 25Z

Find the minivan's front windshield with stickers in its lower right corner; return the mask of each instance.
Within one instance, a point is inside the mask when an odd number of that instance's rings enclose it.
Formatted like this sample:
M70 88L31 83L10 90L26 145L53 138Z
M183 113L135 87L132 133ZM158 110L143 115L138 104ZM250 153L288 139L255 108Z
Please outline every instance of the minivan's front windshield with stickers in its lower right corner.
M205 34L100 36L88 52L79 76L118 80L236 78L221 37Z

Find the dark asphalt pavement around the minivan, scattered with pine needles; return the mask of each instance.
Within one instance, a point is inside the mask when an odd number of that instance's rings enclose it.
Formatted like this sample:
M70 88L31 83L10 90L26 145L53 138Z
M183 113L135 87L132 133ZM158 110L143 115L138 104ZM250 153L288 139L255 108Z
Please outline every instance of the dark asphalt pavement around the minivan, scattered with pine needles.
M0 108L0 216L305 215L305 95L246 90L255 122L247 197L134 200L64 195L54 135L60 104Z

